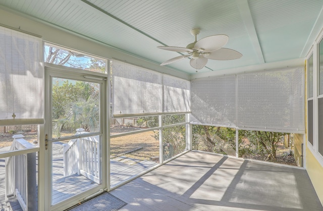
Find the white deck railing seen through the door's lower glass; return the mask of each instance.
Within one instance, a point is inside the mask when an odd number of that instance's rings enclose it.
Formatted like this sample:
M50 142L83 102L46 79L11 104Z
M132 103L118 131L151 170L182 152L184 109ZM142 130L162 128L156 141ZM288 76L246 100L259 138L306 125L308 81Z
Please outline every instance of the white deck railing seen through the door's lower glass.
M76 134L86 134L84 129L77 129ZM72 139L64 146L64 176L84 175L100 183L100 137L91 136Z

